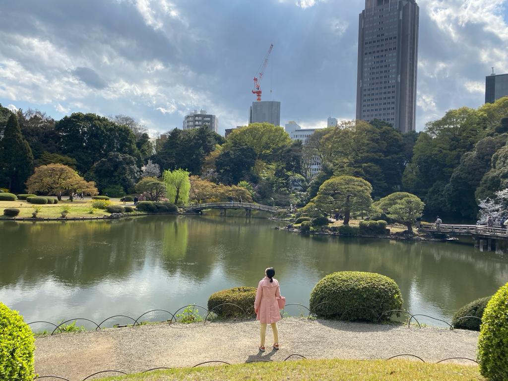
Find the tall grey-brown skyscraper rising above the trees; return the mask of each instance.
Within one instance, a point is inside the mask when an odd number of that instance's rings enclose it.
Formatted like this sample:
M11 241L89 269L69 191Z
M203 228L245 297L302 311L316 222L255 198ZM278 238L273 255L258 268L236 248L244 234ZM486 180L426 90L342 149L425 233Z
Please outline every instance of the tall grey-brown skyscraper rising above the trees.
M356 117L415 130L418 22L415 0L365 0L358 32Z

